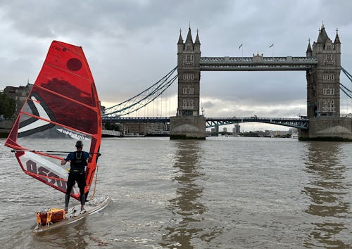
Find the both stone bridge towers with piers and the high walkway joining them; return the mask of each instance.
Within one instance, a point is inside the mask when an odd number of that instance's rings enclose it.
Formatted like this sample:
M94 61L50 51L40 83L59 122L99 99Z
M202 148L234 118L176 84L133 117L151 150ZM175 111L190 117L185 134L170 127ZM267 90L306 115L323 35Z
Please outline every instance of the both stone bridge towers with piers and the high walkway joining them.
M300 139L351 139L351 119L340 117L341 41L329 39L324 25L313 46L308 41L305 57L201 57L198 32L193 41L191 27L186 40L177 42L177 115L170 117L170 138L204 139L208 120L199 114L201 71L301 70L307 79L307 122ZM309 127L308 127L309 122ZM308 129L306 129L308 127Z

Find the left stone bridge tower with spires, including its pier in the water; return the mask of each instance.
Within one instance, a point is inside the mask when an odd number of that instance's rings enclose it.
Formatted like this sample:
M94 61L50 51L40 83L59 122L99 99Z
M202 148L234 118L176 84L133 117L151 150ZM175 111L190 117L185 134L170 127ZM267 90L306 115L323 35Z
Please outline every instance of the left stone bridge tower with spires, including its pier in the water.
M191 27L186 41L177 42L177 115L170 117L170 139L205 139L206 118L199 115L201 42L198 30L193 42Z

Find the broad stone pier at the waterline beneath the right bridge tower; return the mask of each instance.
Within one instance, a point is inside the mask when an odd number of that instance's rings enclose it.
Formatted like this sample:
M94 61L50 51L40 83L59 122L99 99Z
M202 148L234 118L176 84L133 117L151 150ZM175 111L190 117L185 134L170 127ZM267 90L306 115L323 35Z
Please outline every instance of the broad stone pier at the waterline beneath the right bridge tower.
M352 141L352 119L348 117L318 117L309 119L309 128L299 130L300 140Z

